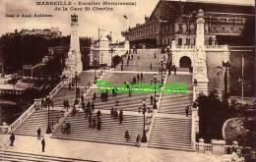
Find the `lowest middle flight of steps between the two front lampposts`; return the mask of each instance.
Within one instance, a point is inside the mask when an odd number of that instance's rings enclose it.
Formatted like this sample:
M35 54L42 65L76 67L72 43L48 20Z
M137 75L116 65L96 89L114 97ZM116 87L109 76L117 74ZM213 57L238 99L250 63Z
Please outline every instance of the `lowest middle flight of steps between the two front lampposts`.
M94 115L96 116L96 114ZM110 114L102 113L101 130L98 131L96 128L89 128L89 122L88 119L85 118L85 113L79 112L75 117L68 116L66 118L66 121L70 122L71 125L71 133L69 135L63 134L61 127L59 127L52 137L135 145L136 136L142 135L143 116L125 115L124 111L123 119L120 125L118 119L112 119ZM126 130L129 131L129 142L126 142L124 137Z

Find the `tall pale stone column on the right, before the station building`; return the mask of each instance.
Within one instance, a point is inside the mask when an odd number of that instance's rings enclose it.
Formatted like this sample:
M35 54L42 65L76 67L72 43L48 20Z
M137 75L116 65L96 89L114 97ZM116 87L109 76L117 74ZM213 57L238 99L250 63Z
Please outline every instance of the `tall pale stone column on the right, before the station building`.
M204 11L199 10L196 30L196 46L194 53L195 65L193 68L193 78L197 81L196 92L208 94L208 77L206 65L206 50L205 50L205 20Z

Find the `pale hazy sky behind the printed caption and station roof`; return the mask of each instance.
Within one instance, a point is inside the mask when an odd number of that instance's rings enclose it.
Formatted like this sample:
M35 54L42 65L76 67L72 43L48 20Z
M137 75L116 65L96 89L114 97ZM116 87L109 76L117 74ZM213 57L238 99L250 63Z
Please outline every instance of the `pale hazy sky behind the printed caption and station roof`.
M70 33L70 15L76 13L79 16L80 36L97 37L97 28L105 35L112 31L113 40L123 40L121 31L136 24L143 24L144 18L150 16L159 0L107 0L108 2L136 2L136 6L109 6L113 11L54 11L55 6L36 5L39 0L0 0L0 34L13 32L16 28L47 28L59 27L63 35ZM43 0L44 2L50 0ZM65 0L55 0L65 1ZM68 1L68 0L67 0ZM71 0L69 0L71 1ZM105 0L72 0L72 2L102 2ZM193 1L193 0L190 0ZM222 0L204 0L211 2L223 2ZM19 2L19 3L18 3ZM224 0L225 3L234 2ZM253 4L253 0L236 0L235 3ZM58 6L62 7L62 6ZM73 7L85 7L73 5ZM70 9L70 6L68 7ZM51 14L52 18L8 18L6 14ZM126 16L125 19L123 16Z

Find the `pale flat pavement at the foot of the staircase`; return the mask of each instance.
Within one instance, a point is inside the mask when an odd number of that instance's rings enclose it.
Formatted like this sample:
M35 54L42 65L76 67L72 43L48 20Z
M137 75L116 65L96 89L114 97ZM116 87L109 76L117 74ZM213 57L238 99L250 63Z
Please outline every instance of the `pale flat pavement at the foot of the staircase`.
M9 135L0 135L0 144L9 144ZM105 144L45 137L45 152L41 152L40 140L35 136L16 135L15 146L5 150L57 157L96 160L102 162L221 162L222 156L207 153L186 152ZM0 147L1 148L1 147ZM3 149L3 148L1 148Z

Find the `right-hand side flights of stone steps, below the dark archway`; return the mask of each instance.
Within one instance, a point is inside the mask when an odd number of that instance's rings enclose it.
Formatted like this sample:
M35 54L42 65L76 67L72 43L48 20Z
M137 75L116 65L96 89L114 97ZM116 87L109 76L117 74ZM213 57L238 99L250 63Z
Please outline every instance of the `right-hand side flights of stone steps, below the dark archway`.
M160 107L155 114L149 147L191 151L191 116L185 116L185 108L192 104L192 76L169 76L167 82L183 81L188 84L187 93L163 93Z

